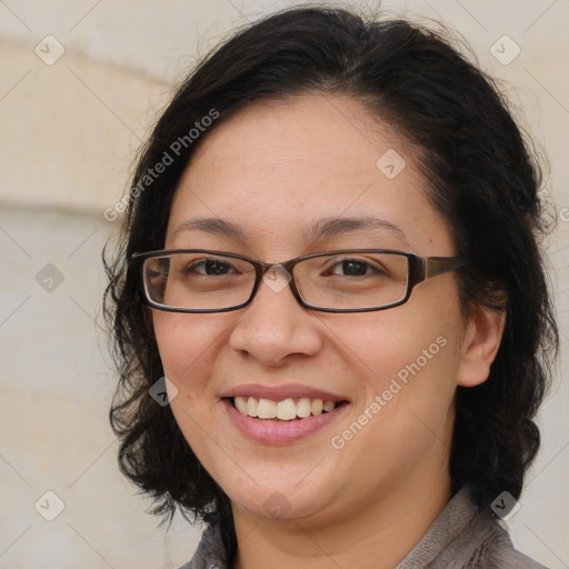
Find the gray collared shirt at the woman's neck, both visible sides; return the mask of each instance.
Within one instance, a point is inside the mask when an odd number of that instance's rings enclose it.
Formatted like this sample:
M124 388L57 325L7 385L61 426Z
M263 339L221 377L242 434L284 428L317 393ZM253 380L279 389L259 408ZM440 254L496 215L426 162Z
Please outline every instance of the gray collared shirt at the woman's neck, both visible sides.
M393 569L547 569L517 551L500 523L457 492L422 539ZM219 525L209 526L180 569L230 569Z

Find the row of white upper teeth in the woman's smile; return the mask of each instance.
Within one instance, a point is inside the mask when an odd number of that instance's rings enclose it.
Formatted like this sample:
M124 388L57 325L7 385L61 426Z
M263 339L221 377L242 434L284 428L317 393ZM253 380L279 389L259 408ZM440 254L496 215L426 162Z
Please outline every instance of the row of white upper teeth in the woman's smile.
M259 419L281 419L290 421L297 417L310 417L310 415L321 415L322 411L331 411L336 403L321 399L309 399L301 397L297 402L295 399L283 399L282 401L271 401L270 399L257 399L256 397L236 396L234 403L241 415L258 417Z

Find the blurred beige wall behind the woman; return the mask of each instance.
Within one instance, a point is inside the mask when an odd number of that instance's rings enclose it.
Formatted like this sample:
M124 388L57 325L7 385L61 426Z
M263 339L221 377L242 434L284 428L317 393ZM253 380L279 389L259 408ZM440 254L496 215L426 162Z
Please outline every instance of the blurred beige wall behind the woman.
M184 70L234 26L300 3L0 1L0 568L166 569L191 557L200 528L179 517L168 532L158 528L117 468L100 253L119 221L103 213L120 200L136 150ZM542 449L508 523L519 549L567 568L569 3L382 7L462 34L549 157L561 362L540 413Z

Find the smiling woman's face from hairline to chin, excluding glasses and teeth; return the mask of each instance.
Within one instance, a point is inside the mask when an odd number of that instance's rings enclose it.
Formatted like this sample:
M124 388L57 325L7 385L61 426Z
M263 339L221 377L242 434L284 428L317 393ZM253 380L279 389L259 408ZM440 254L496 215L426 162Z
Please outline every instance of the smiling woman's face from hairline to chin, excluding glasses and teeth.
M323 220L363 216L377 227L310 237ZM181 228L197 218L222 219L242 237L219 224ZM359 248L455 254L412 147L358 101L318 94L252 104L208 133L176 191L164 247L270 263ZM322 522L411 499L426 483L447 491L465 351L456 274L422 282L402 306L360 313L308 310L273 283L232 312L152 311L178 389L172 412L234 508ZM300 407L317 413L317 399L343 403L319 419L274 421L240 415L238 393L305 397L310 406Z

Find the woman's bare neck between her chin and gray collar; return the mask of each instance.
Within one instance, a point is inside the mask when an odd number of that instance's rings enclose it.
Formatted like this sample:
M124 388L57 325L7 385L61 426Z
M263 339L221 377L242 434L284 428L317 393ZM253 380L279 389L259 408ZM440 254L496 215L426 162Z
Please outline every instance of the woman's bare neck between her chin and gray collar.
M425 475L425 472L416 473ZM233 506L234 569L392 569L427 532L451 497L447 469L410 476L353 505L333 523L261 519ZM379 493L379 492L378 492Z

